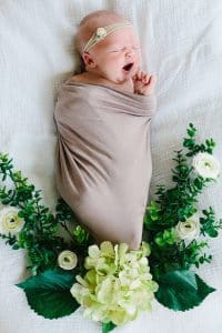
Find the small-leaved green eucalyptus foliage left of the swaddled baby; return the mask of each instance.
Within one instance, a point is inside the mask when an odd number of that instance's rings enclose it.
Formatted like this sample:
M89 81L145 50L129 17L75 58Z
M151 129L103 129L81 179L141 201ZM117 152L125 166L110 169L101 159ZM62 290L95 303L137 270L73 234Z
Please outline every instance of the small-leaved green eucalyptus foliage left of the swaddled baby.
M58 254L65 249L85 248L89 244L87 232L78 228L85 238L75 240L74 233L68 228L72 221L71 209L61 199L58 200L57 211L53 214L49 208L43 205L40 190L36 190L33 184L28 183L21 171L16 171L12 159L8 154L0 154L0 175L2 183L9 181L10 188L0 186L0 201L4 205L17 206L18 216L24 220L24 226L18 236L13 234L0 234L6 243L13 250L26 249L29 258L29 269L32 275L56 269ZM69 235L69 242L59 235L62 226ZM78 231L75 231L78 232ZM72 245L70 244L72 243ZM82 253L83 255L84 253Z

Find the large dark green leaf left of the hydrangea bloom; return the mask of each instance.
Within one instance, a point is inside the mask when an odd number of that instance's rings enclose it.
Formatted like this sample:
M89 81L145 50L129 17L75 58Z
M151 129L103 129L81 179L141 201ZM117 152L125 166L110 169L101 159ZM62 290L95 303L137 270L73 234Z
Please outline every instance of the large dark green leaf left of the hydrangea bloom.
M30 307L47 319L58 319L74 312L80 305L70 289L73 274L65 271L44 271L17 286L24 290Z

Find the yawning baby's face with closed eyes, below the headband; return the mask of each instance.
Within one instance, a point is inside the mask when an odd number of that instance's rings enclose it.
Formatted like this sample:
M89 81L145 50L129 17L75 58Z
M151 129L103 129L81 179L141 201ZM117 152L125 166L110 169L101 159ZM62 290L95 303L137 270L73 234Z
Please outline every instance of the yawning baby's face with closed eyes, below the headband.
M89 53L94 62L93 71L114 83L129 80L140 65L140 42L131 27L110 33Z

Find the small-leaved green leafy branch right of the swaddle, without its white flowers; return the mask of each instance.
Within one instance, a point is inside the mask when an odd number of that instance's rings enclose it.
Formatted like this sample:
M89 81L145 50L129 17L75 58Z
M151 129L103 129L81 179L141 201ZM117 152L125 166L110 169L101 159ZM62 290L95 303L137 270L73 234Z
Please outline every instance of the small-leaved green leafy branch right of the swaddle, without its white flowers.
M188 138L183 140L183 150L175 151L175 167L172 169L174 185L167 189L164 185L157 186L157 200L151 201L144 215L145 238L151 244L150 264L154 278L158 279L172 270L189 270L212 260L211 255L203 251L208 248L206 242L198 242L195 239L189 244L179 241L176 224L185 222L198 212L198 196L212 181L194 172L190 158L199 152L212 154L215 143L212 139L198 144L195 140L196 129L190 124ZM216 221L212 208L202 211L200 218L200 233L203 236L218 236L222 229L222 220Z

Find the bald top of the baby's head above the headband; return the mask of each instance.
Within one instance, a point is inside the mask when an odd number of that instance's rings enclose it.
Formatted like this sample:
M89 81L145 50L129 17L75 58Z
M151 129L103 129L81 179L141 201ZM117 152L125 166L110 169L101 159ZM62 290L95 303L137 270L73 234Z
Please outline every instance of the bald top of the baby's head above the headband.
M84 17L75 34L75 44L79 53L82 56L85 43L98 28L123 21L125 22L125 18L110 10L98 10Z

